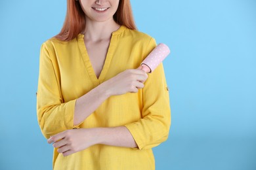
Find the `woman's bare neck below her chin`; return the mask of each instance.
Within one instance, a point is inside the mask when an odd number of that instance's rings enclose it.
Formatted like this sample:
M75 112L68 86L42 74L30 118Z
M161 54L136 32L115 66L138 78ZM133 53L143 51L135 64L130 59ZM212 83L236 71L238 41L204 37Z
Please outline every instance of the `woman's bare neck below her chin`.
M85 31L85 40L90 41L101 41L110 39L114 31L119 29L120 25L116 24L114 19L105 21L105 22L95 22L89 19L86 20Z

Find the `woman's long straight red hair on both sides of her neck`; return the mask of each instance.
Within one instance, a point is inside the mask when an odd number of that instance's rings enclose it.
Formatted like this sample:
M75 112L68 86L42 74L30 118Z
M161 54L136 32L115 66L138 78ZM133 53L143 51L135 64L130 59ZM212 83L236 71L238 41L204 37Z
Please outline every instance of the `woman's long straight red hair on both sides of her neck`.
M119 25L125 25L129 29L137 29L129 0L119 0L119 5L113 18ZM67 0L66 18L60 33L55 37L61 41L70 41L85 29L85 24L85 13L79 1Z

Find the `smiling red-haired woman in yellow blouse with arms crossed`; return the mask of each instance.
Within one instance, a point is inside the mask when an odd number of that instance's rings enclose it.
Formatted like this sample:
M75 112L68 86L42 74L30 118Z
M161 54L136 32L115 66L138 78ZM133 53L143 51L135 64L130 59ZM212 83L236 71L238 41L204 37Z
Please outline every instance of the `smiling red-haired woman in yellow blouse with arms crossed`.
M39 65L37 117L54 169L155 168L151 148L171 118L163 65L139 67L155 46L136 31L129 0L68 0Z

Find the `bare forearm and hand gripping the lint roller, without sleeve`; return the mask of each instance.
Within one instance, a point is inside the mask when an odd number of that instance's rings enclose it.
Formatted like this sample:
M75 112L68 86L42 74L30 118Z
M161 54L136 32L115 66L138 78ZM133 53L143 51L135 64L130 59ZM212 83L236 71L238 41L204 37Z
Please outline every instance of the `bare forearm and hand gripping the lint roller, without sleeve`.
M74 125L81 124L108 97L128 92L137 93L138 89L143 88L148 75L141 68L125 70L79 97L75 103Z

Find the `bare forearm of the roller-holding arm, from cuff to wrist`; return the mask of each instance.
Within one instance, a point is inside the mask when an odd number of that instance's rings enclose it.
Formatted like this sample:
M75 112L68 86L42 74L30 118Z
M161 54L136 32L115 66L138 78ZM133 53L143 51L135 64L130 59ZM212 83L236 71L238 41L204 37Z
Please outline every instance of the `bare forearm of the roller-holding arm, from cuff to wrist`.
M74 125L80 124L90 116L106 99L110 93L104 90L102 84L79 97L75 102Z

